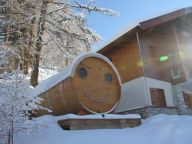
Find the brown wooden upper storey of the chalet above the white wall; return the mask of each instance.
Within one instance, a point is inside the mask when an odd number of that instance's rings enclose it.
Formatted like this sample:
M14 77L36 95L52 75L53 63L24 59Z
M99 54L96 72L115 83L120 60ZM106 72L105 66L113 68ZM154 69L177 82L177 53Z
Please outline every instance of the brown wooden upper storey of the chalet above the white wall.
M173 85L192 76L192 8L140 22L98 53L112 59L122 82L141 76Z

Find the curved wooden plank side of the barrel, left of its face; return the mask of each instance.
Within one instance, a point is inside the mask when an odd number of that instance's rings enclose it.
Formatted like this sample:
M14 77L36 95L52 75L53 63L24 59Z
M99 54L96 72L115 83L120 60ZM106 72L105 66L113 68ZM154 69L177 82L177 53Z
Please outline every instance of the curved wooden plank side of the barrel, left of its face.
M73 90L74 87L72 84L73 79L67 78L49 89L47 92L43 93L41 97L44 100L41 102L41 105L50 109L52 112L49 113L47 110L39 110L36 115L62 115L66 113L78 113L81 106L75 97Z

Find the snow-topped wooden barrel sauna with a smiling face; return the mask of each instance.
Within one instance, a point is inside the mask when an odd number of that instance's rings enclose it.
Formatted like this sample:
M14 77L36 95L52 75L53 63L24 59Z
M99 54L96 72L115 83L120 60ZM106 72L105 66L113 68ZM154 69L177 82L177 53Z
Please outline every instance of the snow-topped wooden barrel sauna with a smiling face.
M43 98L37 115L109 113L120 100L121 80L108 58L97 53L78 56L64 71L35 88Z

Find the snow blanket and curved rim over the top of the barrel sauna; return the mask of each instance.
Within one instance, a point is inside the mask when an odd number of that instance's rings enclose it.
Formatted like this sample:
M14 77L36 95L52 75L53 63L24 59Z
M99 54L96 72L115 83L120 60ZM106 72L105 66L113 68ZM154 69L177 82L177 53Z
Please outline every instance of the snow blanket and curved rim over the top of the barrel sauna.
M38 96L41 93L47 91L48 89L54 87L55 85L57 85L58 83L60 83L64 79L66 79L68 77L73 77L75 74L76 67L79 65L79 63L82 60L84 60L88 57L100 58L100 59L104 60L106 63L108 63L111 66L111 68L115 71L115 73L118 77L119 83L121 84L121 78L119 76L119 73L118 73L117 69L114 67L114 65L112 64L112 62L108 58L106 58L103 55L98 54L98 53L88 52L88 53L82 53L82 54L78 55L74 59L72 64L68 65L63 71L59 72L58 74L56 74L54 76L49 77L46 80L43 80L39 85L37 85L34 88L34 91L32 92L32 96Z

